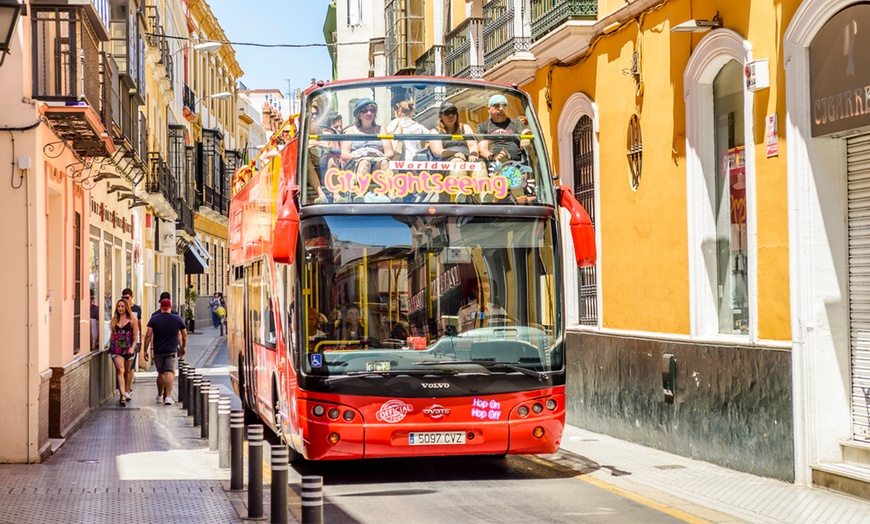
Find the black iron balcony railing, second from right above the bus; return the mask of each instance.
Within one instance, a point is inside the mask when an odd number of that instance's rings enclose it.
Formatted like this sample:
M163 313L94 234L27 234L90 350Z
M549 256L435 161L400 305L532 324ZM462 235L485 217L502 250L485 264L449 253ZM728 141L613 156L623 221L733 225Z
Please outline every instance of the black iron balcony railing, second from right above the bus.
M531 38L518 35L515 27L517 22L522 26L528 16L522 9L516 9L516 0L491 0L483 6L484 66L491 69L496 64L519 51L529 51L532 47Z

